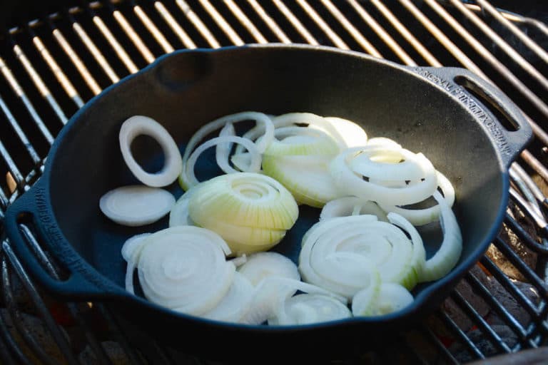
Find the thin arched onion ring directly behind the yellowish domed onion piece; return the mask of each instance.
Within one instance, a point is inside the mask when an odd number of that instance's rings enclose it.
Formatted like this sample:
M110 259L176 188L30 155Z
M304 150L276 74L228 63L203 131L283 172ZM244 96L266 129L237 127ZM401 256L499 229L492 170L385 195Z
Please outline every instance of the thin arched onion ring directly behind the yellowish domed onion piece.
M193 153L190 155L188 160L186 160L183 172L181 173L181 175L179 175L179 183L181 184L181 187L183 187L183 189L188 190L199 183L196 175L194 174L194 165L196 165L198 157L201 155L201 153L203 153L203 151L207 150L208 148L213 147L214 145L225 143L238 143L247 148L251 156L251 163L246 172L258 173L258 171L260 171L261 155L256 148L255 143L246 138L238 136L224 135L223 137L215 137L211 138L210 140L206 140L204 143L199 145L198 148L196 148L196 150L194 150ZM228 172L225 171L225 173L238 173L238 171L232 169L228 170Z

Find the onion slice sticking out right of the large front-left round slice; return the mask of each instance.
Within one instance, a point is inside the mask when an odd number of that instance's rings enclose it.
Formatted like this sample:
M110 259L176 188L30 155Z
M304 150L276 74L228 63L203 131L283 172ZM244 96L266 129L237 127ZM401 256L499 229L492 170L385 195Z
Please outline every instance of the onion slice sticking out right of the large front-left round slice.
M239 272L235 272L234 279L219 304L201 317L223 322L240 322L245 312L248 312L255 288L249 279Z

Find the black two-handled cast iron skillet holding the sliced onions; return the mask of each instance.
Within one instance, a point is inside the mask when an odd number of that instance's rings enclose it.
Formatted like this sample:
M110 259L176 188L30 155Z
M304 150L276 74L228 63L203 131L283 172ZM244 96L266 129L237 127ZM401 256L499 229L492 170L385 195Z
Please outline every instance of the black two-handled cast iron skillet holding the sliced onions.
M360 123L370 137L394 138L425 153L457 191L454 210L464 249L455 269L437 282L420 284L414 304L401 312L300 327L212 322L128 294L121 245L131 235L167 227L167 219L122 227L98 208L106 191L136 183L118 147L121 123L131 115L148 115L166 126L183 150L201 124L243 110L336 115ZM241 359L243 350L255 349L272 359L295 350L341 358L420 320L480 259L502 224L507 169L531 137L509 98L461 68L410 68L318 46L176 51L107 88L71 118L51 148L44 175L6 213L6 231L46 289L66 299L105 301L152 336L189 353ZM133 150L148 170L161 167L155 143L136 140ZM206 156L198 176L215 174L213 165L213 154ZM176 183L168 188L176 197L182 193ZM297 224L275 250L296 262L300 237L318 214L301 207ZM41 266L19 230L21 222L66 269L64 279L52 278ZM429 227L422 234L432 255L441 237ZM179 335L173 337L171 330Z

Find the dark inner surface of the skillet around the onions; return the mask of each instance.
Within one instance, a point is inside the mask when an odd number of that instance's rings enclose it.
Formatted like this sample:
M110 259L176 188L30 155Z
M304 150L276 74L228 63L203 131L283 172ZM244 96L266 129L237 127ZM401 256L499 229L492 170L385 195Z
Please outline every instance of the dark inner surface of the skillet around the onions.
M123 287L123 242L167 227L168 219L123 227L98 208L99 198L108 190L138 183L121 157L121 123L132 115L154 118L183 152L201 125L243 110L348 118L370 137L393 138L404 148L424 153L456 189L454 211L464 240L457 265L477 253L480 245L487 248L497 214L505 206L505 168L462 104L416 73L384 61L340 51L253 47L165 56L109 88L71 120L49 161L51 204L68 242L99 273ZM132 150L146 170L161 167L163 156L151 140L136 140ZM218 173L214 165L213 151L203 155L198 178ZM183 193L177 183L166 188L176 197ZM318 220L319 212L301 207L295 227L274 250L297 262L300 237ZM430 225L421 232L427 254L432 255L441 242L439 227ZM429 285L419 285L413 294Z

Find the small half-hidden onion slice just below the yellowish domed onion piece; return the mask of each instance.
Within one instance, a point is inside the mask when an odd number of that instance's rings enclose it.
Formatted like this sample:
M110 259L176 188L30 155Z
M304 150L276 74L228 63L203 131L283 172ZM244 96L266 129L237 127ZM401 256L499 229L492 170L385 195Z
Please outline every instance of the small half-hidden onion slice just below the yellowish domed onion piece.
M297 265L278 252L257 252L249 255L247 261L238 267L238 272L257 285L265 277L287 277L300 280Z

